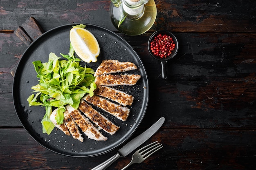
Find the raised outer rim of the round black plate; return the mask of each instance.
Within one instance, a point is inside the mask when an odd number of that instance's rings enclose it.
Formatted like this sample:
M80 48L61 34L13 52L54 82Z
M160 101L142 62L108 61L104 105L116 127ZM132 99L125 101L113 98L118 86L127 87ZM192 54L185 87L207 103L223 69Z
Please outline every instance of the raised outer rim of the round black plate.
M44 146L42 143L40 143L40 142L38 141L38 139L36 139L34 136L32 136L32 134L30 134L30 132L28 131L28 129L25 127L25 123L21 121L20 115L18 114L16 102L15 102L15 101L16 101L16 99L15 99L15 93L16 93L16 92L15 92L15 87L16 87L16 86L15 86L15 82L17 81L16 79L18 79L18 78L17 78L17 75L18 75L17 70L18 70L18 68L20 67L20 63L22 62L22 60L26 60L26 59L24 59L24 58L25 58L24 55L27 53L27 51L30 50L31 46L33 46L33 44L36 44L38 41L40 41L41 39L45 38L45 36L47 36L48 34L52 33L52 32L55 31L55 30L58 30L58 29L60 29L60 28L62 28L62 27L65 27L65 26L74 26L74 25L78 25L78 24L85 24L85 25L90 25L90 26L93 26L93 27L98 27L98 28L100 28L100 29L103 29L103 30L105 30L105 31L107 31L107 32L110 32L110 33L114 34L117 38L119 38L119 39L122 40L124 43L126 43L126 45L130 48L130 50L133 51L133 53L135 53L135 54L137 55L137 58L136 58L136 59L140 62L141 67L144 69L144 80L145 80L145 82L146 82L146 84L147 84L147 87L146 87L146 99L145 99L145 106L144 106L145 109L144 109L143 114L141 115L139 121L137 122L136 127L135 127L135 129L133 130L133 132L130 133L130 135L128 135L127 138L126 138L124 141L122 141L119 145L115 146L114 148L111 148L111 149L109 149L109 150L106 150L106 151L104 151L104 152L101 152L101 153L98 153L98 154L94 154L94 155L69 155L69 154L63 154L63 153L61 153L61 152L57 152L56 150L53 150L53 149L50 149L50 148L47 148L46 146ZM135 131L137 130L137 128L138 128L139 125L141 124L141 121L143 120L144 115L145 115L145 113L146 113L146 110L147 110L147 107L148 107L148 101L149 101L149 83L148 83L148 75L147 75L147 73L146 73L146 69L145 69L145 67L144 67L144 64L143 64L143 62L141 61L141 59L140 59L139 55L137 54L137 52L133 49L133 47L132 47L126 40L124 40L124 38L122 38L121 36L117 35L115 32L110 31L110 30L108 30L108 29L106 29L106 28L104 28L104 27L102 27L102 26L98 26L98 25L95 25L95 24L88 24L88 23L64 24L64 25L61 25L61 26L57 26L57 27L55 27L55 28L53 28L53 29L50 29L49 31L46 31L45 33L43 33L42 35L40 35L40 37L38 37L36 40L34 40L34 41L27 47L27 49L24 51L24 53L22 54L22 57L20 58L20 60L19 60L19 62L18 62L18 64L17 64L16 71L15 71L15 74L14 74L14 76L13 76L12 97L13 97L14 109L15 109L16 115L17 115L17 117L18 117L20 123L22 124L23 128L27 131L27 133L28 133L38 144L40 144L41 146L43 146L43 147L46 148L47 150L50 150L50 151L52 151L52 152L54 152L54 153L57 153L57 154L60 154L60 155L64 155L64 156L69 156L69 157L94 157L94 156L99 156L99 155L106 154L106 153L108 153L108 152L110 152L110 151L112 151L112 150L115 150L117 147L122 146L126 141L128 141L128 139L130 139L130 137L135 133Z

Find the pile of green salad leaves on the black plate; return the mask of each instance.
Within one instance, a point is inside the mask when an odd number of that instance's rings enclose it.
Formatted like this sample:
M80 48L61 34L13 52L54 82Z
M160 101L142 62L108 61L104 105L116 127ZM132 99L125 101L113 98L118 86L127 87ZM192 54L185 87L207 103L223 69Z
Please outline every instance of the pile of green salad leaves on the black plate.
M29 106L45 107L45 115L41 123L43 133L48 135L54 129L54 124L49 119L53 109L57 109L55 117L57 124L62 124L65 105L70 104L77 109L81 98L87 93L93 96L93 91L97 87L94 83L93 69L79 64L81 60L74 56L71 44L68 55L61 54L61 56L66 60L50 53L48 62L33 62L39 82L31 87L34 90L33 94L27 98Z

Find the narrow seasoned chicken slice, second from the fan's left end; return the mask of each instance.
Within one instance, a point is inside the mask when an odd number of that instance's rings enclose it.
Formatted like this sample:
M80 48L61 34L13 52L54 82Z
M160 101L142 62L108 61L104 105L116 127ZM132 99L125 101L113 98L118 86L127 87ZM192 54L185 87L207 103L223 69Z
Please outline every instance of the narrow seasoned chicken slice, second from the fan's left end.
M83 137L79 132L78 126L76 125L75 121L72 119L72 117L70 116L70 113L67 110L64 112L64 121L72 137L74 139L78 139L79 141L83 142Z

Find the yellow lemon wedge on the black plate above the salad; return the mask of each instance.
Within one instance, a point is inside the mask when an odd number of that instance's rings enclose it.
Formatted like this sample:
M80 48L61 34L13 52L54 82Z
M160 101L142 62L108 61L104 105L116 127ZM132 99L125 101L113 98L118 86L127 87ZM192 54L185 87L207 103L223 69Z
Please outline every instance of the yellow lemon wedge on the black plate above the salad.
M97 62L99 56L99 43L94 35L87 29L74 27L70 30L70 43L76 55L84 62Z

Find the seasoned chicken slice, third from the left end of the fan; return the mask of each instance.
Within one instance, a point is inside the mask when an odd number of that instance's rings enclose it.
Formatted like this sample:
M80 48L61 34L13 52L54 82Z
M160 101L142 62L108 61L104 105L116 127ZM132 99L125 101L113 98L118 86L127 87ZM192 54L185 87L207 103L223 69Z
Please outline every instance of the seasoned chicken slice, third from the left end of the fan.
M76 124L81 128L85 135L89 139L94 139L96 141L106 141L108 138L103 136L99 130L93 126L93 124L85 118L84 115L77 109L74 109L69 104L66 106L68 112L70 113L71 117L74 119Z

